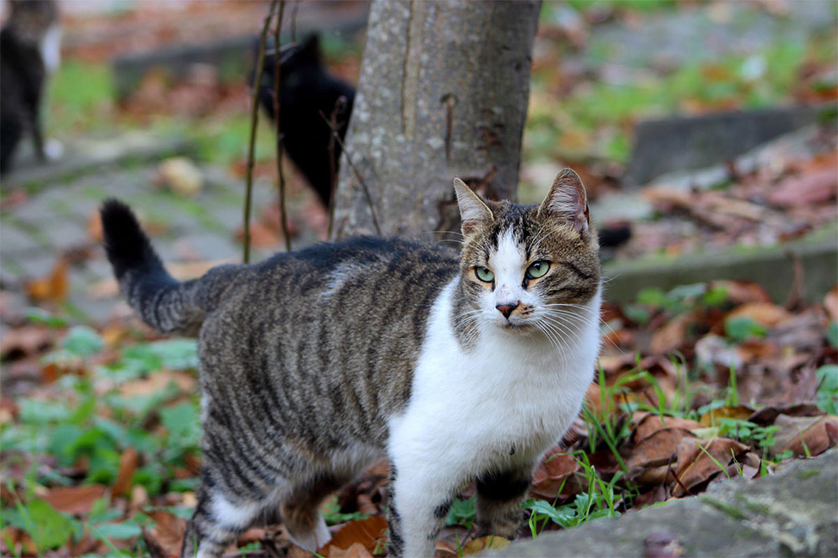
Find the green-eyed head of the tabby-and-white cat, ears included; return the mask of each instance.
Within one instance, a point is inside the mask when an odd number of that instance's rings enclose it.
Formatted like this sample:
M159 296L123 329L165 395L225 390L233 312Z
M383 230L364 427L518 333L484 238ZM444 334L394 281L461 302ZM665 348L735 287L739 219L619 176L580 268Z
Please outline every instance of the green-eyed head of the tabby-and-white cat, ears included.
M457 185L469 316L510 333L579 325L600 284L597 235L582 182L566 169L538 206L483 202Z

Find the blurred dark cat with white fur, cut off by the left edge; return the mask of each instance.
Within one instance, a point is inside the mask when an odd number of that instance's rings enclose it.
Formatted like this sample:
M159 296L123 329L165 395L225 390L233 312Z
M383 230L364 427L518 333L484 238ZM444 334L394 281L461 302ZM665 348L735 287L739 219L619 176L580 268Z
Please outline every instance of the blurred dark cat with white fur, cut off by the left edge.
M41 96L47 75L58 68L61 42L54 0L10 0L8 7L0 29L0 172L8 171L24 132L32 135L39 159L46 159Z

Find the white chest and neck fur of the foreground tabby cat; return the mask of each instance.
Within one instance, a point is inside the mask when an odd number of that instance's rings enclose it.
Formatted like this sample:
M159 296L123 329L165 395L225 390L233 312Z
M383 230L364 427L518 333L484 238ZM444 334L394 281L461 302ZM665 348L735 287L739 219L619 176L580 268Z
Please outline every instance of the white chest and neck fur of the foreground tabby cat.
M458 477L443 484L535 463L579 412L599 350L597 294L588 309L596 319L580 322L561 351L491 324L464 351L450 321L455 287L433 307L411 402L391 420L392 457L432 464L441 482Z

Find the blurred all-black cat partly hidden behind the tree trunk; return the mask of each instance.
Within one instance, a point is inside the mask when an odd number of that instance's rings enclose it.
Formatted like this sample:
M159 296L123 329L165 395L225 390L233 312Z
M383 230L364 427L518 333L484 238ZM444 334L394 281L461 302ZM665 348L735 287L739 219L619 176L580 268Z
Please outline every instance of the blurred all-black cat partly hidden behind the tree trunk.
M281 54L279 129L285 137L285 151L317 191L320 201L328 207L332 197L334 176L340 161L340 146L332 140L332 131L323 120L335 114L341 141L349 125L355 90L349 84L326 72L317 35L287 54ZM259 102L274 120L274 54L266 55L259 84ZM339 101L340 98L344 102ZM329 151L334 145L334 154Z

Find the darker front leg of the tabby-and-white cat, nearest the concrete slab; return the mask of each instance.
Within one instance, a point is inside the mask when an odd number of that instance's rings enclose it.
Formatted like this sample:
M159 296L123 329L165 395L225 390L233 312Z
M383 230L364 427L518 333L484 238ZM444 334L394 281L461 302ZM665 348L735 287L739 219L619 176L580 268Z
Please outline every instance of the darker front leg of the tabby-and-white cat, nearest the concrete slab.
M478 535L514 539L534 467L511 468L482 475L477 481Z

